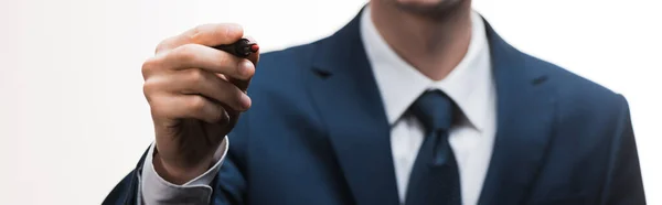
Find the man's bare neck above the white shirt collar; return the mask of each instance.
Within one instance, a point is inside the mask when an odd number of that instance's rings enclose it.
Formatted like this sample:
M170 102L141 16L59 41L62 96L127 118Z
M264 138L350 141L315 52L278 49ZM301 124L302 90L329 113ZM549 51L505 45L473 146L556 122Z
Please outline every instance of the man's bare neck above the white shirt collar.
M387 1L370 3L372 21L386 43L433 80L444 79L465 57L471 41L471 1L442 15L405 11Z

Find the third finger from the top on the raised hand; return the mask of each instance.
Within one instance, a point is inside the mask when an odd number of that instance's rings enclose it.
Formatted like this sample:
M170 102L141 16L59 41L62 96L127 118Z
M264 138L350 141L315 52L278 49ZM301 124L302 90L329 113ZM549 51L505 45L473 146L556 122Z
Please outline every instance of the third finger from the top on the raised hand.
M146 82L145 89L147 94L202 95L236 111L250 107L250 98L237 86L216 74L196 68L151 77Z

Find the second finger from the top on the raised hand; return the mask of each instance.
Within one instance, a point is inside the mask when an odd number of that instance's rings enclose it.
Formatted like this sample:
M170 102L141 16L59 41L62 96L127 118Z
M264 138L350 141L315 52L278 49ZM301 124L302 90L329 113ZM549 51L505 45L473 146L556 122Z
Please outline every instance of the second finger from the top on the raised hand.
M250 61L200 44L185 44L149 61L158 62L153 63L153 66L162 69L180 71L195 67L242 80L250 78L255 73Z

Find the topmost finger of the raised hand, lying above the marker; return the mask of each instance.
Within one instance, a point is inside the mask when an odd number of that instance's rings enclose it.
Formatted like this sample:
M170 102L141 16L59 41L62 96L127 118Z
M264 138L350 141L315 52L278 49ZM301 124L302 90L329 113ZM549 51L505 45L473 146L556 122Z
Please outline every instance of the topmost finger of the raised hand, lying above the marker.
M203 24L162 41L157 46L156 53L173 50L184 44L202 44L206 46L231 44L242 39L242 36L244 36L244 29L238 24Z

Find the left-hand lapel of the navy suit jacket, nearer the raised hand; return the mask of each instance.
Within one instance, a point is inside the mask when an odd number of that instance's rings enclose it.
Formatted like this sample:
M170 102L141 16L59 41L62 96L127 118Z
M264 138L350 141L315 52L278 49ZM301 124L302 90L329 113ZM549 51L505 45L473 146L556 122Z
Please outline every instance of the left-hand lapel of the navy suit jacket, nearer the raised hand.
M360 15L316 43L308 85L355 203L396 205L391 127L361 41Z

